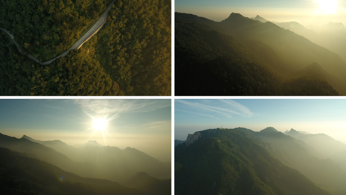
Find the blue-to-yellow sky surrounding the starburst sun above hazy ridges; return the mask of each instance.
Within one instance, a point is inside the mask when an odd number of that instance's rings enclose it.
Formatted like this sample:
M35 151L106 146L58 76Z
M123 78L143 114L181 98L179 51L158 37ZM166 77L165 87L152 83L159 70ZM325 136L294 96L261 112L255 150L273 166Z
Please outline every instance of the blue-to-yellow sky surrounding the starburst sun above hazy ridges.
M170 99L0 99L0 108L0 133L8 136L69 145L96 140L171 158ZM103 118L104 136L94 124Z

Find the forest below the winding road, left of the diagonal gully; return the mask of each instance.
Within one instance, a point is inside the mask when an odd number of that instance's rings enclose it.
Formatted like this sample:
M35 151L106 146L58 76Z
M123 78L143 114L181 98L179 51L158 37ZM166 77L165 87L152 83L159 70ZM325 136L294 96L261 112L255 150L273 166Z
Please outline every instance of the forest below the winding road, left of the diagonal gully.
M6 36L0 32L1 95L122 94L100 63L92 58L91 47L71 51L52 64L40 65L20 54Z

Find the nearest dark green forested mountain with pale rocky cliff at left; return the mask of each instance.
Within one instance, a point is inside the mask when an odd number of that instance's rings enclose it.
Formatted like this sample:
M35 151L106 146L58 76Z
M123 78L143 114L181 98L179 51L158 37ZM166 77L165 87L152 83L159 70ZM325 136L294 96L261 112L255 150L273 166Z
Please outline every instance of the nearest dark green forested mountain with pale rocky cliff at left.
M331 194L284 165L267 149L273 146L251 132L210 129L192 144L178 145L176 194Z

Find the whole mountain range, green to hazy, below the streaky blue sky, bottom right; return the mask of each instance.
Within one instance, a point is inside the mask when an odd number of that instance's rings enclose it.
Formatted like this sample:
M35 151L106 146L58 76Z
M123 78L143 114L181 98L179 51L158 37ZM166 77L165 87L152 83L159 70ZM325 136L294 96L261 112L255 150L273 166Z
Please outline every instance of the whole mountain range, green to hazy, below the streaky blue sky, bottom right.
M175 148L177 194L344 194L346 172L274 128L210 129Z

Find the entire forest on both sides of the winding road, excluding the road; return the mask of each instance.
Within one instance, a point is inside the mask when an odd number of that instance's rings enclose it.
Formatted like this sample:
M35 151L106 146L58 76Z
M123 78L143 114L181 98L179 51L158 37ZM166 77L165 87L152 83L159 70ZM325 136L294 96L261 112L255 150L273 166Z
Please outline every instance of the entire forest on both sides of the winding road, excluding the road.
M0 27L23 50L51 59L110 2L2 1ZM0 95L170 95L170 8L167 0L115 1L90 41L48 65L19 53L1 31Z

